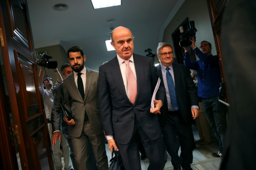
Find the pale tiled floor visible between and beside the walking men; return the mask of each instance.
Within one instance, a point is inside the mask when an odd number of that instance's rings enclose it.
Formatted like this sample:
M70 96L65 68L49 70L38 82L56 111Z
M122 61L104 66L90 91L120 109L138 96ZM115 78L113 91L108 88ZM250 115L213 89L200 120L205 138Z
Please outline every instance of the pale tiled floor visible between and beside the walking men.
M199 135L198 135L196 126L192 125L192 129L193 129L195 140L199 140ZM191 164L191 168L194 170L209 170L209 169L218 170L221 159L212 157L212 152L218 152L218 151L219 151L219 144L214 141L212 144L208 144L208 145L196 144L196 149L193 151L193 163ZM110 160L111 152L108 149L108 144L106 144L106 152L107 152L108 160ZM180 151L179 151L179 154L180 154ZM147 170L149 165L148 159L146 158L144 160L141 160L140 162L141 162L141 169ZM167 163L165 164L164 169L165 170L173 169L173 166L171 163L171 157L168 153L167 153Z

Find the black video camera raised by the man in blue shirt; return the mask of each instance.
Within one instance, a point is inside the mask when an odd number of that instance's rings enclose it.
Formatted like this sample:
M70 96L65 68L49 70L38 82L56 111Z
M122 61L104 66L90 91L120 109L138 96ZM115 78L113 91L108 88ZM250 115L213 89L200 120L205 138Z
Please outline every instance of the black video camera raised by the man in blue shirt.
M196 28L194 21L188 21L189 23L189 31L184 33L183 26L180 26L180 46L187 47L191 45L191 41L189 38L194 37L196 40Z

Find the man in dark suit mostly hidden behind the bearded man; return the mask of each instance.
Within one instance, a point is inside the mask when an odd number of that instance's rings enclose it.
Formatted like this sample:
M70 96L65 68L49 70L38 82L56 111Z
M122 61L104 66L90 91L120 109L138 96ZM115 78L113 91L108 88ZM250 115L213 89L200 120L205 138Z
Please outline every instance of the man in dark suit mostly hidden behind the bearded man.
M70 67L69 63L62 64L60 67L60 72L63 78L66 78L69 74L73 72L72 68ZM69 146L71 146L71 140L68 136L68 124L63 121L63 111L61 108L61 104L64 106L64 91L63 91L63 84L60 84L58 87L53 89L53 106L52 106L52 146L54 146L59 138L61 142L61 146L63 148L63 157L66 166L66 162L70 161L71 167L71 159L70 154L73 154L72 148L71 153L69 152ZM62 137L64 135L64 137ZM63 140L68 141L68 146L63 144ZM59 142L57 142L59 145ZM65 151L67 150L67 151ZM89 152L89 165L91 170L96 170L97 165L93 155L92 146L88 143L88 152ZM66 168L65 168L66 169Z

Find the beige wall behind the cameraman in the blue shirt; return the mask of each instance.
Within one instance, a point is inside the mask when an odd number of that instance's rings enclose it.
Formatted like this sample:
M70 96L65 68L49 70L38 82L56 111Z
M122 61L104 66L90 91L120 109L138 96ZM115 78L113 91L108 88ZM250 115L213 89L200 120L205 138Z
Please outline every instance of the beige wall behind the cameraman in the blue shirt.
M164 30L163 42L173 45L172 33L174 30L188 17L188 20L195 21L196 32L196 46L199 47L203 40L209 41L212 44L212 54L216 55L216 48L212 33L212 26L210 15L208 12L207 2L205 0L186 0L179 11L173 17L172 21ZM176 20L179 19L177 23ZM198 60L198 58L197 58Z

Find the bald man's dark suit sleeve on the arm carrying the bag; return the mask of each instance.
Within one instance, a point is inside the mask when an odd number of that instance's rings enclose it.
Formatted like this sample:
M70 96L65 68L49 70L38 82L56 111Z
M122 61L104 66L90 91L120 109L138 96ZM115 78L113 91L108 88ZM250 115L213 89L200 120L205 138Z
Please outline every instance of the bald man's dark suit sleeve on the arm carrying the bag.
M106 71L103 67L99 68L99 107L100 118L105 131L105 135L113 135L112 126L112 102L109 91L109 85L106 77Z

